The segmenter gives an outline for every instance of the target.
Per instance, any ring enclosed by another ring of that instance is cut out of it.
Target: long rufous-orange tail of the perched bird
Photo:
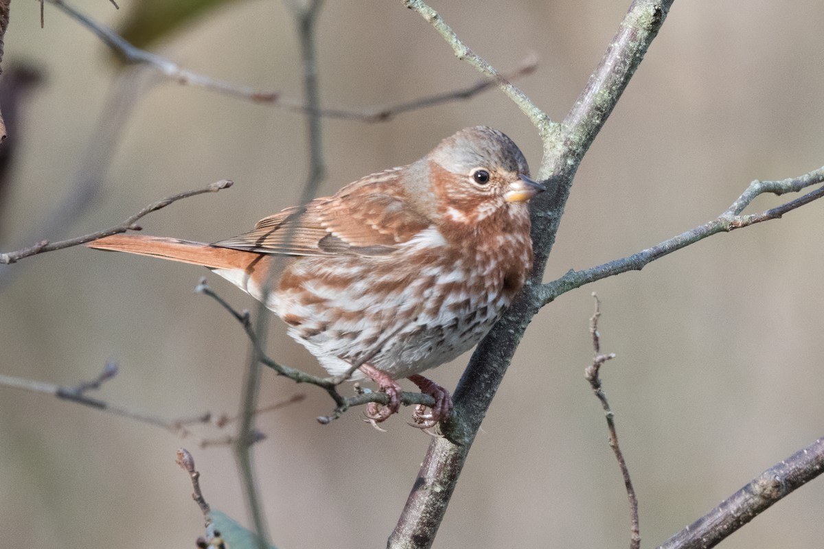
[[[178,240],[148,235],[111,235],[92,240],[89,248],[105,249],[127,254],[147,255],[180,263],[202,265],[212,269],[250,268],[261,254],[239,249],[221,248],[202,242]]]

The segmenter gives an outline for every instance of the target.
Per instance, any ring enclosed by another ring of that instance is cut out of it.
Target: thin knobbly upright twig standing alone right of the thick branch
[[[626,488],[627,498],[630,500],[630,549],[639,549],[641,547],[641,531],[638,521],[638,498],[635,496],[635,489],[632,486],[630,479],[630,469],[626,465],[624,453],[620,450],[618,444],[618,431],[616,430],[615,414],[612,412],[610,403],[606,400],[606,393],[601,384],[601,366],[606,361],[611,361],[616,357],[615,353],[608,355],[601,352],[601,334],[598,333],[598,319],[601,318],[601,300],[595,292],[592,292],[592,297],[595,298],[595,313],[589,319],[589,333],[592,335],[592,364],[584,370],[584,377],[587,378],[589,386],[592,387],[592,392],[598,400],[601,401],[601,406],[604,408],[604,415],[606,416],[606,426],[610,431],[610,448],[616,454],[618,466],[620,467],[621,476],[624,477],[624,486]]]

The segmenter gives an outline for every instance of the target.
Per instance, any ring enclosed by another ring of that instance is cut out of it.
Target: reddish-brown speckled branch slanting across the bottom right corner
[[[824,472],[824,438],[762,472],[658,549],[709,549]]]

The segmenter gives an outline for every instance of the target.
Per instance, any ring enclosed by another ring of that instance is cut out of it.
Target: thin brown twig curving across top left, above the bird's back
[[[40,0],[41,8],[43,0]],[[352,109],[321,109],[317,106],[312,106],[302,101],[284,97],[279,91],[260,91],[255,90],[251,86],[243,86],[229,81],[218,80],[217,78],[208,77],[199,72],[190,71],[185,67],[171,61],[171,59],[164,58],[161,55],[152,54],[145,49],[140,49],[128,40],[125,40],[115,30],[108,26],[102,25],[97,21],[92,20],[89,16],[77,10],[68,2],[64,0],[49,0],[54,6],[59,7],[63,12],[68,13],[75,20],[80,22],[87,29],[91,30],[104,44],[112,49],[116,54],[123,58],[125,63],[133,65],[143,65],[152,67],[162,77],[171,81],[176,81],[185,86],[194,86],[204,88],[208,91],[218,92],[225,95],[231,95],[238,99],[250,100],[255,103],[263,105],[271,105],[287,109],[292,112],[302,114],[318,114],[322,117],[332,119],[348,119],[363,123],[378,123],[386,122],[398,114],[404,114],[417,109],[425,109],[435,105],[442,105],[443,103],[452,102],[456,100],[465,100],[478,95],[483,91],[489,89],[494,85],[494,81],[485,79],[478,81],[472,86],[467,86],[459,90],[447,91],[440,94],[428,95],[419,99],[405,101],[395,105],[386,105],[382,107],[375,107],[372,109],[352,110]],[[535,71],[537,67],[537,58],[535,55],[530,55],[525,58],[522,63],[518,65],[513,71],[503,73],[503,79],[514,79],[517,77],[526,76]]]

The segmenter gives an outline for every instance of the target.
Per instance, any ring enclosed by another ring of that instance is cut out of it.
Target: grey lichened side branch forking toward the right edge
[[[725,212],[713,221],[708,221],[704,225],[687,230],[681,233],[681,235],[673,236],[671,239],[664,240],[663,242],[655,244],[652,248],[644,249],[629,257],[616,259],[615,261],[584,269],[583,271],[570,270],[563,277],[537,287],[536,297],[540,300],[541,305],[546,305],[550,303],[550,301],[555,300],[559,295],[590,282],[612,277],[622,272],[640,271],[648,263],[652,263],[667,254],[672,254],[672,252],[681,248],[686,248],[686,246],[695,244],[709,236],[741,229],[742,227],[755,225],[762,221],[780,219],[785,213],[792,212],[804,204],[824,197],[824,186],[800,198],[785,202],[778,207],[770,208],[763,212],[750,215],[742,215],[742,212],[757,196],[763,193],[773,193],[775,195],[798,193],[804,188],[822,182],[824,182],[824,166],[795,178],[781,179],[780,181],[753,181],[749,187],[747,187],[747,190],[745,190]]]

